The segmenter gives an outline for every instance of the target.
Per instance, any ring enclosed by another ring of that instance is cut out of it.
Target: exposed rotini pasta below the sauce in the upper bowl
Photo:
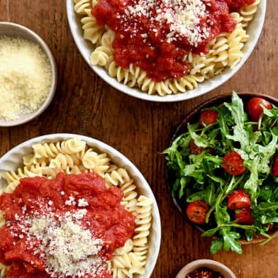
[[[113,59],[112,43],[115,33],[108,27],[98,26],[96,18],[91,15],[91,8],[97,0],[74,0],[74,11],[82,16],[84,39],[90,40],[95,48],[91,52],[91,65],[104,67],[111,77],[128,87],[138,87],[148,94],[184,93],[196,89],[199,83],[221,74],[227,67],[233,69],[243,57],[243,46],[248,40],[246,28],[255,16],[260,0],[245,6],[230,15],[237,21],[232,33],[221,33],[208,44],[206,55],[192,55],[190,52],[183,58],[190,66],[189,71],[180,79],[169,78],[155,82],[147,77],[147,73],[140,67],[130,64],[128,69],[118,66]]]

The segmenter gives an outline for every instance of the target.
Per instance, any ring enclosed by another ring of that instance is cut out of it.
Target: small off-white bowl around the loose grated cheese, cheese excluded
[[[45,102],[42,104],[42,106],[40,106],[39,109],[37,109],[33,113],[21,114],[19,118],[12,121],[6,121],[5,119],[0,118],[0,126],[18,126],[21,125],[22,123],[26,123],[30,120],[33,120],[33,118],[35,117],[38,117],[41,113],[43,113],[43,111],[45,111],[45,109],[52,101],[57,87],[57,67],[56,67],[55,59],[52,55],[52,52],[48,48],[48,45],[46,45],[43,39],[40,38],[40,36],[38,36],[32,30],[16,23],[0,22],[0,36],[1,35],[7,35],[8,37],[24,38],[26,40],[33,41],[34,43],[40,45],[40,47],[43,49],[45,54],[48,56],[48,60],[50,62],[51,71],[52,71],[52,82],[51,82],[49,94],[45,99]]]

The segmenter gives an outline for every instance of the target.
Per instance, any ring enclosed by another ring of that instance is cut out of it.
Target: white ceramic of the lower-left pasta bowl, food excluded
[[[161,240],[161,225],[160,225],[160,213],[158,211],[157,202],[155,201],[155,196],[152,194],[152,189],[148,182],[145,180],[140,171],[133,165],[128,158],[118,152],[114,148],[99,140],[94,138],[89,138],[87,136],[77,135],[77,134],[50,134],[44,135],[37,138],[30,139],[15,148],[11,149],[5,155],[0,158],[0,188],[4,185],[4,179],[1,179],[1,175],[6,171],[16,170],[18,167],[23,165],[22,157],[32,152],[32,145],[35,143],[46,143],[46,142],[57,142],[59,140],[67,140],[73,137],[79,137],[84,140],[88,145],[101,152],[106,152],[116,165],[125,167],[131,177],[133,177],[135,184],[138,186],[138,192],[144,194],[150,198],[153,202],[152,206],[152,229],[149,238],[149,251],[147,257],[147,263],[145,266],[145,274],[135,276],[136,278],[150,278],[153,269],[155,268],[155,263],[157,261],[158,253],[160,251],[160,240]]]

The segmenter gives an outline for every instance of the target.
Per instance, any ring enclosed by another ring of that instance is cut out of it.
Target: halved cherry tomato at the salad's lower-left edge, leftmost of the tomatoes
[[[206,223],[206,213],[209,211],[209,206],[204,201],[192,201],[187,206],[187,217],[195,224]]]

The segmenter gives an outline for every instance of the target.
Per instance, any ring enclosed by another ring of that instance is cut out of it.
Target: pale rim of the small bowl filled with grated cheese
[[[46,97],[45,101],[43,102],[43,104],[39,108],[37,110],[35,110],[33,113],[24,114],[24,115],[27,115],[27,116],[23,119],[21,118],[21,116],[19,116],[19,118],[15,119],[15,120],[9,120],[9,121],[6,121],[3,118],[0,118],[0,127],[19,126],[23,123],[27,123],[28,121],[33,120],[33,118],[36,118],[36,117],[40,116],[40,114],[43,113],[43,111],[45,111],[45,109],[47,109],[48,106],[50,105],[50,102],[52,101],[52,99],[55,95],[55,91],[57,89],[57,79],[58,79],[58,77],[57,77],[57,65],[56,65],[56,62],[55,62],[55,57],[53,56],[53,54],[52,54],[50,48],[48,47],[48,45],[33,30],[30,30],[29,28],[27,28],[26,26],[22,26],[21,24],[9,22],[9,21],[0,21],[0,28],[2,28],[2,27],[6,27],[6,28],[10,28],[10,29],[17,29],[21,33],[27,33],[28,35],[30,35],[30,37],[33,37],[33,39],[34,39],[33,42],[40,45],[40,48],[42,48],[43,52],[45,52],[45,55],[47,55],[48,60],[50,62],[50,67],[51,67],[51,86],[50,86],[50,90],[48,92],[48,96]],[[3,33],[1,35],[5,35],[5,34]]]

